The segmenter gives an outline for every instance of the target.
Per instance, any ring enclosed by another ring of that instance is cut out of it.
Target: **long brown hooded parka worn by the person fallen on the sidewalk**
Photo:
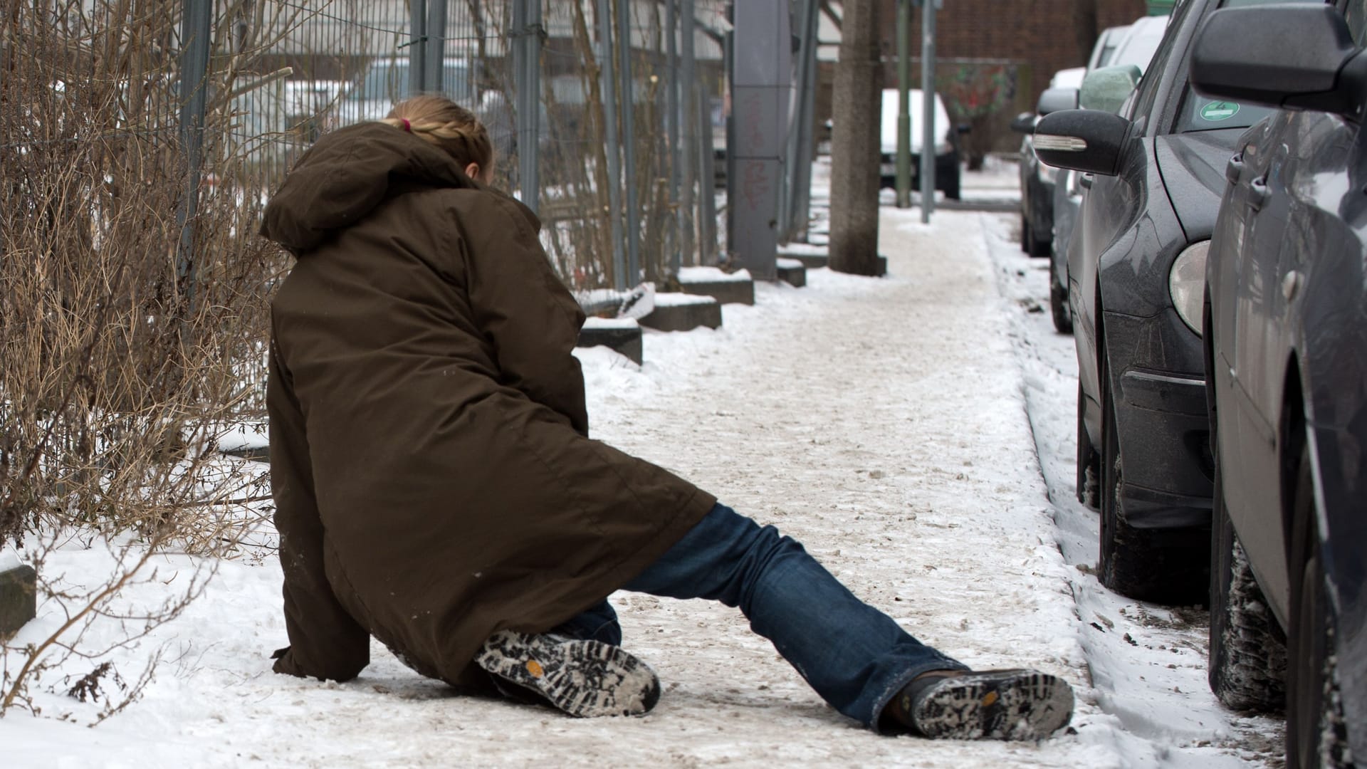
[[[267,207],[298,260],[272,302],[276,672],[353,679],[373,635],[483,686],[489,634],[595,605],[715,504],[588,438],[584,313],[539,226],[383,123],[324,135]]]

